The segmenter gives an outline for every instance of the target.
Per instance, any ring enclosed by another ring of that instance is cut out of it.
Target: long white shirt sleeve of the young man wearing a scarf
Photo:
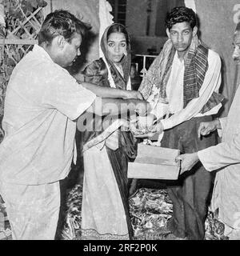
[[[164,130],[170,129],[182,122],[189,120],[190,118],[193,118],[202,110],[202,107],[209,100],[213,92],[218,92],[221,85],[221,60],[219,55],[214,51],[209,50],[208,63],[209,68],[206,71],[202,87],[199,90],[199,97],[192,99],[184,109],[173,114],[170,118],[162,120]],[[215,106],[217,110],[216,113],[218,113],[218,110],[222,106],[221,103],[218,105],[219,106]]]

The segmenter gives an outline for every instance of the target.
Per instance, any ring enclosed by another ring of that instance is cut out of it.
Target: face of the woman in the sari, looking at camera
[[[121,62],[122,57],[126,54],[126,37],[120,32],[111,33],[107,39],[106,46],[108,58],[112,62]]]

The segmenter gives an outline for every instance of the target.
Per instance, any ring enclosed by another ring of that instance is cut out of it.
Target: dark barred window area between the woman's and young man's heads
[[[136,54],[148,54],[148,49],[159,53],[167,39],[164,25],[166,12],[174,6],[184,6],[184,0],[151,0],[149,35],[146,35],[147,3],[148,0],[127,1],[126,27]]]

